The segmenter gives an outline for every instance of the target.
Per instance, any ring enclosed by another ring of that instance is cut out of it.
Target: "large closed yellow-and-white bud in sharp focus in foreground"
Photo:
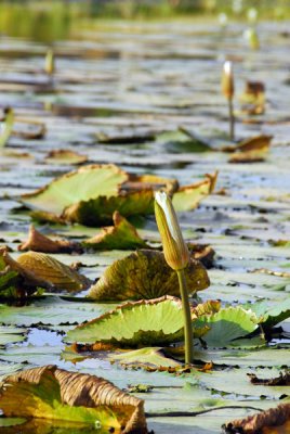
[[[189,261],[189,252],[182,237],[171,199],[164,192],[155,194],[155,217],[166,261],[175,271],[184,269]]]

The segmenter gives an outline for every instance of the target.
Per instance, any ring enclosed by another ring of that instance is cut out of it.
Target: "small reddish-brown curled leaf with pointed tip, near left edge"
[[[51,240],[42,235],[34,225],[29,228],[28,240],[18,245],[18,251],[34,251],[42,253],[81,253],[82,247],[79,243],[74,243],[68,240]]]

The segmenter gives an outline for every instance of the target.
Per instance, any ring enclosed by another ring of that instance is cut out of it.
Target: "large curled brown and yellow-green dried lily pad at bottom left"
[[[0,390],[0,408],[5,417],[69,421],[121,434],[147,433],[143,399],[102,378],[56,366],[8,376]]]

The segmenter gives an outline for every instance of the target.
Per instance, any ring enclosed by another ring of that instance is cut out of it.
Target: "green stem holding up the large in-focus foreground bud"
[[[194,336],[193,336],[190,306],[188,301],[184,269],[176,270],[176,273],[179,277],[180,291],[182,296],[182,307],[184,315],[185,365],[190,365],[194,358]]]

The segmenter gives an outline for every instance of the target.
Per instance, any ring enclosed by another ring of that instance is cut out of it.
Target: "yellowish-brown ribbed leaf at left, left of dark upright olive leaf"
[[[60,290],[80,291],[89,285],[87,278],[44,253],[24,253],[17,263],[34,276]]]

